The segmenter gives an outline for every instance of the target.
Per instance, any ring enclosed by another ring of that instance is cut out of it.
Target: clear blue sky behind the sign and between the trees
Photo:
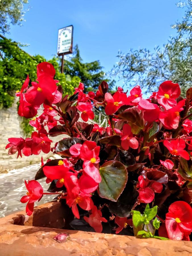
[[[23,26],[11,26],[5,36],[49,59],[57,51],[58,28],[73,24],[83,61],[100,60],[105,72],[118,61],[118,50],[162,46],[175,34],[170,25],[184,14],[174,0],[29,0],[29,5]]]

